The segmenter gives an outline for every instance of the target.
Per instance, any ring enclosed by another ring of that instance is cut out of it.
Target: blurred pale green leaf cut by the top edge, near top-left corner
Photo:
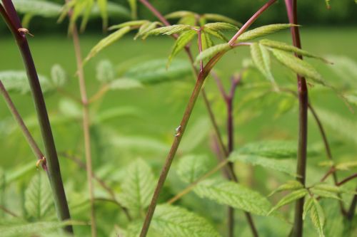
[[[62,6],[43,0],[13,0],[16,11],[31,16],[56,17],[61,13]]]

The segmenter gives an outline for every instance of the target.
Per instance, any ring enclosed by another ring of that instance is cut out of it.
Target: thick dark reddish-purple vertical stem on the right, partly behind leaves
[[[296,0],[285,0],[288,20],[295,25],[298,24]],[[300,33],[298,27],[291,27],[291,36],[293,38],[293,46],[301,48]],[[301,56],[296,55],[301,58]],[[297,180],[305,186],[306,179],[306,150],[307,150],[307,133],[308,133],[308,89],[306,79],[301,75],[297,75],[298,80],[298,158],[297,158]],[[293,223],[292,236],[303,236],[303,202],[304,199],[298,199],[295,207],[295,217]]]

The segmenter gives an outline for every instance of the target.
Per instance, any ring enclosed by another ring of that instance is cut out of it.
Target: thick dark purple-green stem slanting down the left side
[[[29,85],[31,88],[31,94],[34,99],[34,105],[37,112],[37,118],[39,120],[39,126],[41,128],[41,135],[44,142],[46,164],[48,167],[49,182],[54,194],[54,203],[56,206],[57,216],[61,221],[71,218],[69,214],[69,207],[66,200],[66,194],[64,192],[64,185],[61,178],[61,170],[59,167],[59,159],[56,153],[56,147],[54,144],[54,137],[51,131],[51,125],[49,122],[49,115],[47,114],[46,104],[44,101],[44,95],[42,94],[41,85],[39,83],[39,77],[36,72],[34,60],[31,56],[29,43],[26,40],[26,36],[23,32],[18,31],[21,28],[19,16],[17,16],[14,5],[11,0],[2,0],[6,12],[0,7],[1,16],[4,17],[7,26],[16,38],[16,43],[19,46],[22,59],[26,68],[26,73],[29,78]],[[73,233],[71,225],[64,227],[66,231]]]

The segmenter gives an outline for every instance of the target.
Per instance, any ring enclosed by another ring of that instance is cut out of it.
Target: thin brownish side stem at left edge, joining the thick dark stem
[[[3,95],[6,105],[9,107],[11,114],[13,115],[17,124],[19,125],[19,127],[22,131],[22,134],[26,138],[27,143],[29,143],[29,146],[31,147],[32,152],[34,152],[37,159],[39,159],[39,160],[44,159],[44,154],[41,152],[34,137],[32,137],[29,129],[26,127],[24,120],[22,120],[22,117],[19,114],[19,111],[16,110],[14,102],[12,102],[9,93],[6,91],[6,88],[4,87],[4,84],[1,82],[1,80],[0,80],[0,93],[1,93],[1,95]],[[46,162],[42,162],[42,168],[44,168],[44,170],[47,170]]]

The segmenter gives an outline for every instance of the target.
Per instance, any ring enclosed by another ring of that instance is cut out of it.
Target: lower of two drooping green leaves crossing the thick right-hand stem
[[[275,56],[281,64],[285,65],[287,68],[290,68],[293,70],[293,72],[324,84],[320,73],[318,73],[316,69],[306,61],[301,60],[300,58],[296,58],[291,53],[286,53],[285,51],[281,51],[275,48],[271,48],[271,51],[273,52],[273,56]]]

